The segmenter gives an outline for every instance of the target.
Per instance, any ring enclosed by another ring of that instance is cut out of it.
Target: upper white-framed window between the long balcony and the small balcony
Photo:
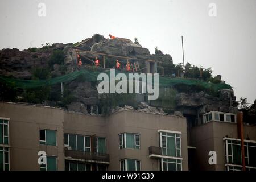
[[[141,145],[140,134],[134,134],[134,133],[119,134],[119,149],[122,149],[122,148],[139,149],[140,145]]]

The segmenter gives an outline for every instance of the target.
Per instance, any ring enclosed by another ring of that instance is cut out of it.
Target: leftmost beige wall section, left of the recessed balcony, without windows
[[[0,116],[10,118],[10,170],[39,170],[38,152],[57,156],[64,170],[63,110],[0,102]],[[57,146],[39,144],[39,129],[57,131]]]

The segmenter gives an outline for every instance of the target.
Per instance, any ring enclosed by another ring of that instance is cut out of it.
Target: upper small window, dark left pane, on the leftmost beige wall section
[[[40,144],[56,146],[56,130],[39,130]]]

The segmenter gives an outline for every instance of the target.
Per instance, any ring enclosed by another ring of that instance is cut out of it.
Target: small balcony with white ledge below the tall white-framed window
[[[168,158],[168,159],[179,159],[182,160],[183,158],[176,156],[176,155],[171,155],[173,154],[174,150],[169,150],[167,148],[163,148],[162,150],[161,147],[154,147],[151,146],[148,148],[149,150],[149,157],[150,158]],[[180,154],[181,156],[181,154]]]

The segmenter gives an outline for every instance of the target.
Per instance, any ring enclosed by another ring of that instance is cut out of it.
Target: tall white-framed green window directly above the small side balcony
[[[181,157],[181,142],[179,133],[160,132],[160,147],[162,155]]]

